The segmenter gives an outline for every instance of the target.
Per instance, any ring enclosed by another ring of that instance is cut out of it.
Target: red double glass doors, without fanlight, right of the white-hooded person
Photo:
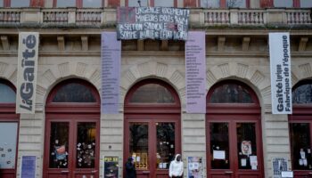
[[[251,120],[209,122],[209,177],[260,177],[259,123]]]

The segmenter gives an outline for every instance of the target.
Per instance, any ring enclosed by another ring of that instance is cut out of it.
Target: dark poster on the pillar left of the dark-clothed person
[[[104,157],[103,178],[118,178],[119,177],[119,158]]]

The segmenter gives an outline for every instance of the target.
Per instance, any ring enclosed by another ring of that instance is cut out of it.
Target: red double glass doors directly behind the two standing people
[[[126,137],[124,159],[134,158],[138,178],[168,177],[170,161],[180,150],[177,121],[128,120]]]

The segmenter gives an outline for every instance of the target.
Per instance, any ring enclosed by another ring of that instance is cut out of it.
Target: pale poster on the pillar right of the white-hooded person
[[[202,171],[202,157],[187,157],[187,178],[202,178]]]

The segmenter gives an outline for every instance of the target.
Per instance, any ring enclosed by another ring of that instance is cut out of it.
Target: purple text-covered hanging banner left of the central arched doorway
[[[119,113],[121,41],[116,32],[102,33],[102,104],[103,114]]]

